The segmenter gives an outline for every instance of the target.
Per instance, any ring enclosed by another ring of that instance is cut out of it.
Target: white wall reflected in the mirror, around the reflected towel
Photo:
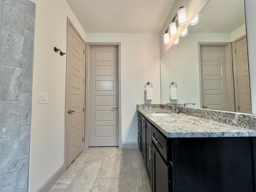
[[[161,102],[196,103],[200,107],[200,70],[198,42],[230,42],[230,33],[189,33],[180,37],[161,58]],[[169,99],[169,85],[178,84],[178,100]]]

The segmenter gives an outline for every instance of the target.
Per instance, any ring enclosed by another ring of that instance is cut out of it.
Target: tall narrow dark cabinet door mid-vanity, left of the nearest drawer
[[[148,177],[149,177],[149,180],[150,180],[150,184],[151,184],[151,187],[152,187],[152,158],[150,158],[150,156],[152,156],[151,154],[151,144],[152,144],[152,127],[151,127],[151,124],[150,122],[147,121],[146,123],[146,168],[148,170]]]

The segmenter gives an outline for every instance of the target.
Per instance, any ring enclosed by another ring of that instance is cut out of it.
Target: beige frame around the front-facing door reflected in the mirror
[[[202,108],[202,74],[201,74],[201,55],[200,46],[218,46],[225,47],[226,56],[226,76],[228,89],[228,109],[230,112],[235,112],[235,98],[234,98],[234,73],[232,61],[232,43],[231,42],[198,42],[198,64],[199,64],[199,90],[200,90],[200,108]]]

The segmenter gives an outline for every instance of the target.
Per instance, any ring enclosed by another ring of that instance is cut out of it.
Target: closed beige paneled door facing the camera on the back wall
[[[118,146],[118,47],[90,47],[89,146]]]

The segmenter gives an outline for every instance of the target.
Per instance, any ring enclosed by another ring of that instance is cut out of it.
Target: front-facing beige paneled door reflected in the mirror
[[[200,46],[202,107],[228,111],[224,46]]]

